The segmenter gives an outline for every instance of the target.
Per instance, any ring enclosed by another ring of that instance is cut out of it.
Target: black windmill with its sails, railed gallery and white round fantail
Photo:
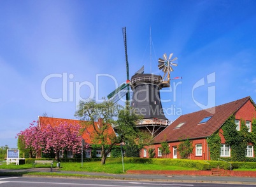
[[[173,53],[167,58],[159,58],[159,69],[164,72],[164,77],[160,75],[144,74],[144,66],[138,70],[129,81],[129,65],[127,60],[126,31],[123,28],[125,60],[127,81],[119,86],[115,91],[108,94],[108,99],[117,102],[126,94],[126,105],[129,105],[130,87],[133,91],[131,107],[138,115],[143,115],[143,119],[137,124],[141,131],[148,131],[156,136],[169,125],[169,120],[164,115],[162,103],[160,100],[160,89],[170,86],[170,72],[173,71],[171,66],[177,66],[173,63],[178,58],[173,58]]]

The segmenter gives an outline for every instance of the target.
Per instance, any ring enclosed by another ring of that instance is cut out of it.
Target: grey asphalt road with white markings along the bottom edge
[[[0,177],[0,186],[4,187],[43,187],[43,186],[112,186],[112,187],[144,187],[144,186],[166,186],[166,187],[182,187],[182,186],[195,186],[195,187],[222,187],[222,186],[253,186],[256,184],[227,184],[227,183],[174,183],[174,182],[150,182],[150,181],[125,181],[125,180],[103,180],[103,179],[72,179],[72,178],[59,178],[59,177]]]

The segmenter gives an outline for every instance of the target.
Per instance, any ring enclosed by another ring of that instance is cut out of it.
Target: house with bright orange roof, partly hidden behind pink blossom
[[[98,119],[97,122],[94,122],[96,129],[100,128],[102,126],[102,120],[103,119]],[[67,123],[69,125],[75,125],[75,124],[80,124],[82,127],[82,124],[85,123],[85,121],[83,120],[73,120],[73,119],[60,119],[60,118],[55,118],[55,117],[38,117],[38,124],[41,128],[43,128],[44,126],[47,126],[48,124],[50,124],[51,126],[58,126],[59,124],[64,124]],[[107,129],[106,131],[107,134],[111,135],[111,136],[116,136],[115,135],[115,131],[113,129],[113,127],[110,126],[110,128]],[[89,145],[93,145],[94,143],[92,142],[92,136],[94,136],[94,127],[92,126],[88,126],[86,131],[83,132],[82,134],[82,138],[83,141]],[[108,139],[108,141],[110,141],[110,139]],[[84,150],[85,153],[85,157],[87,158],[91,158],[92,156],[92,152],[95,153],[96,157],[101,157],[101,149],[97,148],[97,150],[92,150],[92,147]],[[62,158],[64,155],[63,152],[60,152],[60,158]],[[73,153],[72,152],[66,152],[66,156],[68,158],[73,158]],[[41,155],[39,155],[39,157],[41,157]]]

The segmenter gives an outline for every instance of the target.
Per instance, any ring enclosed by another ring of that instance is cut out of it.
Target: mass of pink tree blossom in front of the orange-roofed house
[[[73,154],[81,153],[82,134],[80,124],[60,123],[52,126],[34,126],[34,122],[25,131],[18,133],[18,137],[24,143],[25,148],[31,150],[31,157],[52,150],[59,160],[60,151],[71,151]],[[88,148],[86,143],[84,148]]]

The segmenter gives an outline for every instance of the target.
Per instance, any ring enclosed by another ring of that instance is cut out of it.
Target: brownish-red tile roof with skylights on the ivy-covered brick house
[[[160,134],[154,138],[154,142],[171,142],[180,141],[181,139],[197,139],[211,136],[211,134],[222,127],[225,120],[241,108],[248,100],[253,103],[252,99],[248,96],[224,105],[181,115],[178,119],[174,120],[172,124],[166,127],[164,131],[160,132]],[[255,105],[255,103],[253,103],[253,105]],[[204,117],[210,116],[212,117],[208,122],[199,124]],[[178,124],[183,122],[184,124],[181,127],[175,128]]]

